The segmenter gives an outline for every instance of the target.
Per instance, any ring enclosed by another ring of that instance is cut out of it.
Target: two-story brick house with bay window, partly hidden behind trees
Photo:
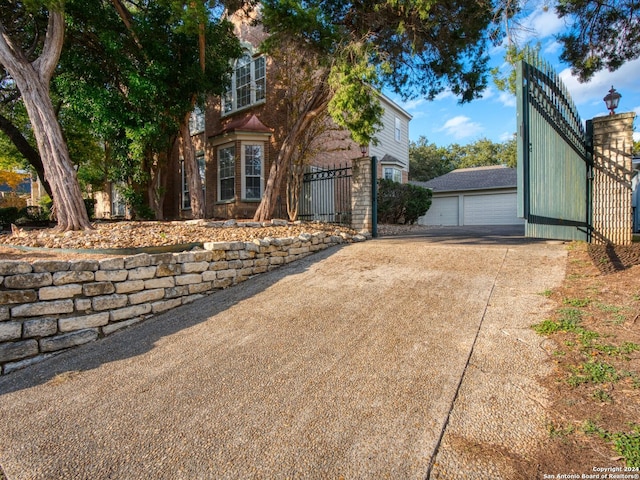
[[[235,62],[231,85],[221,97],[210,98],[206,108],[196,109],[190,124],[207,218],[253,217],[287,133],[289,114],[282,101],[286,86],[276,81],[273,59],[258,50],[265,35],[245,19],[235,18],[234,23],[244,55]],[[407,182],[411,116],[386,96],[380,94],[379,98],[384,109],[383,126],[377,143],[368,146],[368,155],[377,156],[379,177]],[[334,124],[332,131],[320,139],[322,148],[309,162],[311,165],[350,165],[353,158],[362,156],[361,147],[348,132],[336,129]],[[105,217],[115,216],[116,209],[125,213],[121,202],[113,200],[117,197],[113,186],[106,190],[110,194],[104,195],[97,210]],[[192,218],[188,182],[177,149],[168,165],[165,191],[165,218]],[[285,193],[283,185],[277,217],[287,216]]]

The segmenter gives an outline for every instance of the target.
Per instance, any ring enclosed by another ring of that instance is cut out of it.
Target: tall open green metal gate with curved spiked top
[[[529,51],[517,66],[518,216],[525,235],[591,237],[592,156],[589,134],[566,87]]]

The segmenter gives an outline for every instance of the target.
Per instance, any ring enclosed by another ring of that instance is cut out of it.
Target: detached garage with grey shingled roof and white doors
[[[420,225],[521,225],[517,217],[516,169],[460,168],[428,182],[411,182],[433,192]]]

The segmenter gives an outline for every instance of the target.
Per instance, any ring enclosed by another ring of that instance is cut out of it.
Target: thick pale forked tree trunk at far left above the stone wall
[[[82,230],[92,227],[49,95],[49,82],[60,58],[63,40],[64,15],[50,11],[42,54],[29,62],[0,21],[0,63],[16,82],[27,109],[45,177],[51,185],[58,229]]]

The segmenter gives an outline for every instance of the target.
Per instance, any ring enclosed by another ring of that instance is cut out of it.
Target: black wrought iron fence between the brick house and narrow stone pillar
[[[351,225],[351,166],[309,167],[302,180],[298,218]]]

